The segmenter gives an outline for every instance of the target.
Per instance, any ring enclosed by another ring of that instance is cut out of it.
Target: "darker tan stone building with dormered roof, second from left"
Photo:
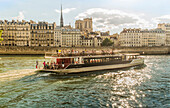
[[[31,24],[30,46],[54,46],[56,24],[38,22]]]

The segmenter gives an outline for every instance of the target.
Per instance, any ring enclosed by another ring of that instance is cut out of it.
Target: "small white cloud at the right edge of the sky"
[[[169,23],[170,22],[170,15],[164,15],[160,17],[153,18],[152,21],[156,24],[158,23]]]

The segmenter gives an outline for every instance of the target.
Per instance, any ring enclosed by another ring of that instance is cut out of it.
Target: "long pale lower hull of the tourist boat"
[[[36,72],[53,72],[53,73],[64,75],[64,74],[93,72],[93,71],[100,71],[100,70],[121,69],[121,68],[128,68],[128,67],[133,67],[133,66],[138,66],[143,64],[144,64],[144,59],[134,59],[127,64],[113,64],[113,65],[92,66],[92,67],[62,69],[62,70],[41,69],[41,70],[37,70]]]

